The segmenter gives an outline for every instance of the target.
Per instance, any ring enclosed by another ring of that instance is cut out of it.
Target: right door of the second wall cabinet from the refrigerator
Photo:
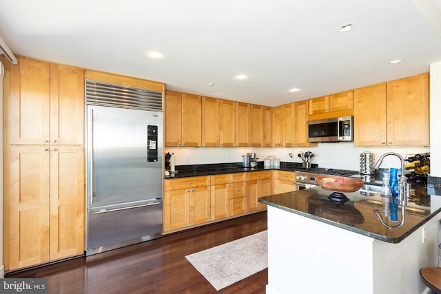
[[[234,146],[236,136],[236,104],[234,101],[219,101],[219,144],[224,147]]]

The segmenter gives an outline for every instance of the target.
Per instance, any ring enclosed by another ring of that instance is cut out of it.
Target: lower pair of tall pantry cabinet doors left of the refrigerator
[[[10,146],[8,269],[84,251],[82,146]]]

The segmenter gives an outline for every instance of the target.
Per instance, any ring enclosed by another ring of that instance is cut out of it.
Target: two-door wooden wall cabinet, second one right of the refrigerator
[[[202,97],[202,146],[234,146],[234,101]]]

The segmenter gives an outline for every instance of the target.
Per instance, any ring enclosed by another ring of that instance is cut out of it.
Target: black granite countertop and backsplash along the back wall
[[[317,164],[312,164],[311,167],[318,167]],[[263,162],[258,162],[254,168],[242,167],[241,162],[234,163],[210,163],[206,165],[178,165],[176,166],[177,174],[173,176],[165,176],[165,179],[172,178],[188,178],[193,176],[212,176],[218,174],[235,174],[247,171],[265,171],[271,169],[278,169],[283,171],[300,171],[306,170],[298,162],[280,162],[280,167],[264,167]]]

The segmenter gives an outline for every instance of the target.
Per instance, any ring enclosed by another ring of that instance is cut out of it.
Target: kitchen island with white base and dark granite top
[[[420,268],[438,266],[441,197],[409,203],[404,226],[389,229],[373,212],[382,212],[380,196],[345,193],[349,202],[337,205],[330,193],[259,199],[268,210],[267,293],[424,293]]]

